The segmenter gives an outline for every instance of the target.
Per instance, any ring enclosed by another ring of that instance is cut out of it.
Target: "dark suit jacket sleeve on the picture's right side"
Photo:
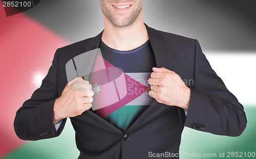
[[[246,124],[243,105],[212,70],[196,40],[194,87],[184,125],[216,135],[240,136]]]

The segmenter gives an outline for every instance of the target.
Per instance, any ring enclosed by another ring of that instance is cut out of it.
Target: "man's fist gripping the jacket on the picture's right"
[[[151,91],[148,94],[160,103],[176,105],[187,111],[190,89],[181,80],[180,76],[164,67],[154,67],[153,71],[151,78],[148,80],[148,84],[151,85]]]

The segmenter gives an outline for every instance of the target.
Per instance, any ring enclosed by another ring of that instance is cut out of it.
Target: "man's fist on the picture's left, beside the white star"
[[[67,117],[76,117],[92,107],[94,92],[92,85],[81,77],[68,83],[61,96],[54,103],[53,123],[58,123]]]

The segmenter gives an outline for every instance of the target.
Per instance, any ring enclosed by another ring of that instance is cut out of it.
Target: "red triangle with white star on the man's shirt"
[[[105,117],[149,90],[97,55],[88,81],[93,85],[92,109]]]

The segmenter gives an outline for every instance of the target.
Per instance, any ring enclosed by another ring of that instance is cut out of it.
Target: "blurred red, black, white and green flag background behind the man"
[[[0,158],[77,158],[79,151],[70,121],[58,138],[22,141],[14,133],[13,120],[17,109],[40,87],[55,50],[103,30],[99,2],[45,0],[9,17],[0,5]],[[204,158],[220,158],[223,152],[225,157],[221,158],[236,158],[231,152],[253,158],[253,153],[251,157],[248,154],[256,152],[254,6],[253,0],[144,1],[143,18],[148,26],[199,40],[212,68],[244,105],[247,115],[248,124],[240,137],[217,136],[185,127],[181,158],[200,158],[196,153],[205,153]]]

